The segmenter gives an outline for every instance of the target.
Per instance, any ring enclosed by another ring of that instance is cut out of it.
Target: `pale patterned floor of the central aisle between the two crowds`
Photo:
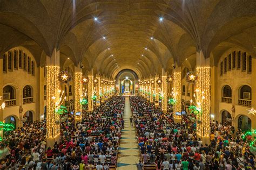
[[[124,130],[120,140],[117,169],[137,169],[139,162],[138,140],[134,126],[130,126],[130,117],[132,116],[129,96],[125,97],[124,107]],[[133,124],[134,125],[134,124]]]

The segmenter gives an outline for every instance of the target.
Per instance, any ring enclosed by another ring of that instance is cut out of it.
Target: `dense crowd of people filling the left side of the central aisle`
[[[0,145],[0,169],[109,169],[117,163],[125,97],[113,96],[76,122],[62,116],[60,142],[46,147],[46,122],[24,125]]]

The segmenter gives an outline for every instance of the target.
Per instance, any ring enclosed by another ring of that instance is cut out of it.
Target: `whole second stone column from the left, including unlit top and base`
[[[74,79],[74,84],[75,84],[75,125],[77,122],[81,122],[82,121],[82,104],[80,103],[80,99],[82,98],[82,93],[83,93],[83,84],[82,84],[82,69],[79,67],[75,67],[75,79]],[[80,115],[76,115],[77,112],[80,112]]]

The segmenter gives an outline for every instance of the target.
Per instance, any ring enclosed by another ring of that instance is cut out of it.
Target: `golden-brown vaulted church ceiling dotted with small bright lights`
[[[255,32],[254,0],[0,1],[0,53],[24,46],[42,66],[57,48],[107,77],[171,72],[199,50],[214,62],[232,46],[255,56]]]

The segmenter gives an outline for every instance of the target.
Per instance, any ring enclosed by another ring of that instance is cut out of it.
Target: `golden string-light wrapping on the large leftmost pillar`
[[[59,114],[56,114],[56,102],[59,101],[59,66],[46,66],[46,127],[47,138],[59,135]]]

